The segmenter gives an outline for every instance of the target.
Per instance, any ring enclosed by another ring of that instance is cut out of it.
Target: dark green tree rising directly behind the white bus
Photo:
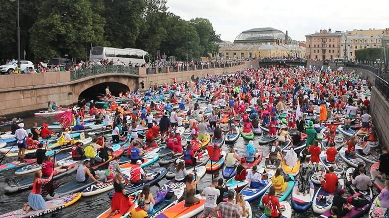
[[[144,28],[144,0],[104,0],[105,36],[114,48],[131,48]]]

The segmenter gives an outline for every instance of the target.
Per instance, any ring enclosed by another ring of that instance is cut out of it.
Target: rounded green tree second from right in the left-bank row
[[[161,53],[178,60],[191,60],[200,55],[200,38],[195,27],[179,16],[169,14],[166,22],[168,37],[161,43]]]

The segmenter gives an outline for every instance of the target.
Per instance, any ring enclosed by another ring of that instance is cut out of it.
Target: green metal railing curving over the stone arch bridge
[[[70,80],[81,79],[83,77],[104,73],[126,73],[138,75],[139,68],[121,65],[94,66],[92,68],[78,69],[71,72]]]

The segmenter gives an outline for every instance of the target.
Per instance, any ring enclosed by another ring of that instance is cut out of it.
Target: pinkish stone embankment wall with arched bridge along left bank
[[[190,80],[191,76],[220,75],[233,73],[250,67],[258,68],[258,61],[236,61],[208,65],[173,67],[134,68],[126,66],[98,66],[74,72],[33,73],[0,75],[0,115],[15,115],[47,108],[49,101],[57,105],[71,105],[85,92],[96,90],[106,84],[135,91],[141,81],[145,87],[154,84],[170,84]]]

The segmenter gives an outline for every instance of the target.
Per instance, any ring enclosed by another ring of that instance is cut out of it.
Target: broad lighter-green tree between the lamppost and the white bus
[[[36,60],[65,54],[85,59],[89,43],[106,43],[104,19],[92,12],[89,0],[46,0],[30,33]]]

